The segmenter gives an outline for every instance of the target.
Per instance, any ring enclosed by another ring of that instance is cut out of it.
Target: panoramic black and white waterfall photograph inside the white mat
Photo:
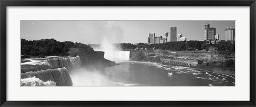
[[[20,86],[236,86],[235,22],[21,20]]]

